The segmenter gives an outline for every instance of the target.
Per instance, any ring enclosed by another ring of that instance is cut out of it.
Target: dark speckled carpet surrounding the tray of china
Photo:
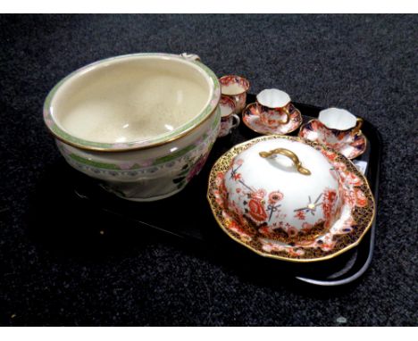
[[[0,16],[0,324],[417,325],[417,28],[416,15]],[[261,286],[169,242],[101,242],[100,227],[95,254],[75,238],[61,249],[34,225],[31,197],[60,159],[48,90],[104,57],[183,51],[252,92],[279,87],[380,129],[377,245],[354,286]]]

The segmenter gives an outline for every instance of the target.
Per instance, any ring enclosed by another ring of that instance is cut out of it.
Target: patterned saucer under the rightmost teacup
[[[348,159],[355,159],[363,154],[367,145],[367,140],[362,132],[351,135],[345,131],[328,129],[319,120],[311,120],[305,123],[298,135],[310,141],[329,146]]]

